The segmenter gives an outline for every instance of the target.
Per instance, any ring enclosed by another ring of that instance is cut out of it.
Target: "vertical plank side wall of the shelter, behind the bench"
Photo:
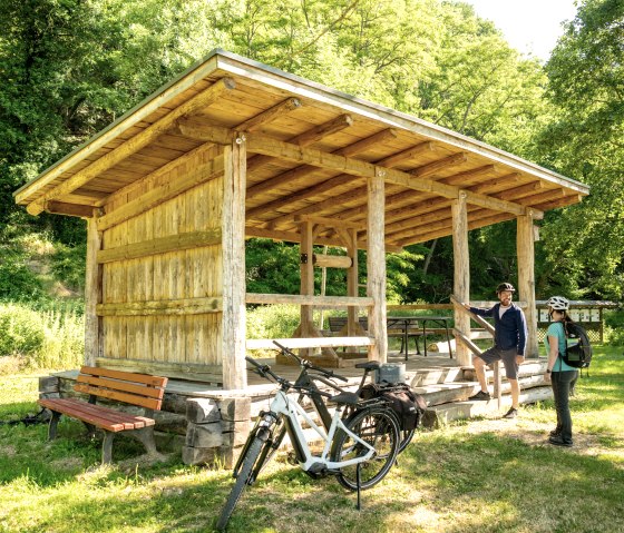
[[[106,214],[179,180],[188,169],[196,170],[216,155],[214,150],[198,151],[195,160],[184,161],[158,179],[134,184],[115,196]],[[103,355],[107,362],[139,359],[186,368],[221,365],[222,198],[220,176],[104,231],[98,314],[103,316]],[[198,233],[215,235],[216,241],[197,245]],[[183,249],[175,249],[175,245],[163,248],[164,239],[179,239],[181,235],[189,236],[194,244]],[[155,244],[165,251],[131,257],[137,249]],[[116,249],[128,250],[126,257],[130,258],[118,258]],[[215,303],[213,308],[206,309],[206,299]]]

